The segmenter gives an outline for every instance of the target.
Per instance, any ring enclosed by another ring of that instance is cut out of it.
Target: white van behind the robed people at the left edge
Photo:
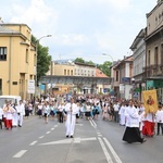
[[[0,96],[0,106],[3,108],[3,104],[7,101],[12,101],[12,103],[17,103],[20,102],[22,98],[20,96]]]

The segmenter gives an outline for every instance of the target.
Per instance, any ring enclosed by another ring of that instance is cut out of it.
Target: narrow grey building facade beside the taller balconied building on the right
[[[143,80],[143,67],[146,66],[146,28],[141,29],[135,38],[130,49],[133,51],[133,98],[141,101],[141,92],[146,90]]]

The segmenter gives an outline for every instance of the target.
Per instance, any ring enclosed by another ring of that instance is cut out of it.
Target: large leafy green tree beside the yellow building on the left
[[[50,63],[52,61],[51,55],[49,55],[49,48],[42,47],[37,39],[32,36],[32,42],[36,45],[37,48],[37,84],[41,76],[45,76],[49,71]]]

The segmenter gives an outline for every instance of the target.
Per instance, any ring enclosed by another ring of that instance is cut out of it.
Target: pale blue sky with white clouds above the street
[[[52,60],[83,58],[102,64],[131,55],[146,14],[156,0],[3,0],[3,23],[29,26]],[[105,55],[103,55],[103,53]]]

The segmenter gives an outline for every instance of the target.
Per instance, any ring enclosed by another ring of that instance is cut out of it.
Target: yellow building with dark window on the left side
[[[0,24],[0,95],[27,99],[35,92],[36,47],[30,39],[26,24]]]

